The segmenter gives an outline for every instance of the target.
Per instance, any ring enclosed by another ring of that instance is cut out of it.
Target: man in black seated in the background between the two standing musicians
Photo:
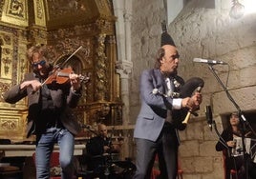
[[[91,159],[88,162],[88,170],[93,170],[95,174],[104,174],[110,167],[108,165],[112,160],[112,153],[118,153],[120,146],[112,144],[106,125],[98,124],[97,136],[88,141],[86,150]]]

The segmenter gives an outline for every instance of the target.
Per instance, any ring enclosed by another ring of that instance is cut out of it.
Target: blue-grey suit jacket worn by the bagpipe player
[[[141,109],[137,118],[134,137],[156,141],[165,123],[167,109],[172,109],[171,97],[152,93],[159,89],[165,93],[166,84],[159,69],[144,70],[140,78]]]

